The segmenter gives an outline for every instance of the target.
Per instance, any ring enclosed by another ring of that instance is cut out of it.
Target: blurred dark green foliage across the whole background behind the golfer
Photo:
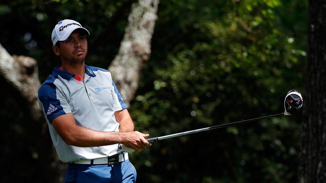
[[[43,81],[60,63],[51,49],[54,24],[76,19],[91,32],[86,63],[107,68],[132,2],[1,2],[0,42],[36,58]],[[151,57],[129,107],[136,129],[153,137],[282,112],[288,90],[304,95],[306,9],[307,0],[161,0]],[[18,121],[3,136],[24,136]],[[301,111],[153,142],[129,156],[139,182],[294,182],[300,123]],[[6,148],[9,155],[16,147]]]

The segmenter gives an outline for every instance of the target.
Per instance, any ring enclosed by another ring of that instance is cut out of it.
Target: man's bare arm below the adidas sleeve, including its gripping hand
[[[96,131],[77,125],[71,113],[56,117],[52,120],[51,124],[61,138],[69,145],[89,147],[122,143],[136,151],[141,151],[150,145],[145,140],[148,134],[143,134],[138,131]]]

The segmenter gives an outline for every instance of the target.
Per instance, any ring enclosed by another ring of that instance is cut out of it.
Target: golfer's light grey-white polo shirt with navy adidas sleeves
[[[127,108],[127,105],[109,71],[85,65],[85,76],[81,79],[55,67],[41,85],[38,98],[61,161],[105,157],[120,150],[118,144],[96,147],[68,145],[51,125],[54,118],[72,113],[77,125],[98,131],[119,131],[114,112]]]

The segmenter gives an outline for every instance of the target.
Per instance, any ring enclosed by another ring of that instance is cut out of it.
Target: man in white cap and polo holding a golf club
[[[134,131],[109,71],[85,64],[89,31],[64,19],[52,31],[62,65],[39,89],[39,104],[59,158],[69,162],[65,182],[135,182],[136,170],[119,144],[138,152],[149,134]]]

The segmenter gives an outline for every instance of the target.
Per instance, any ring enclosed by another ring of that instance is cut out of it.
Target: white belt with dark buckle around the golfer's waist
[[[95,159],[79,159],[74,162],[70,162],[73,164],[116,164],[122,161],[129,159],[128,153],[119,153],[112,156],[100,157]]]

